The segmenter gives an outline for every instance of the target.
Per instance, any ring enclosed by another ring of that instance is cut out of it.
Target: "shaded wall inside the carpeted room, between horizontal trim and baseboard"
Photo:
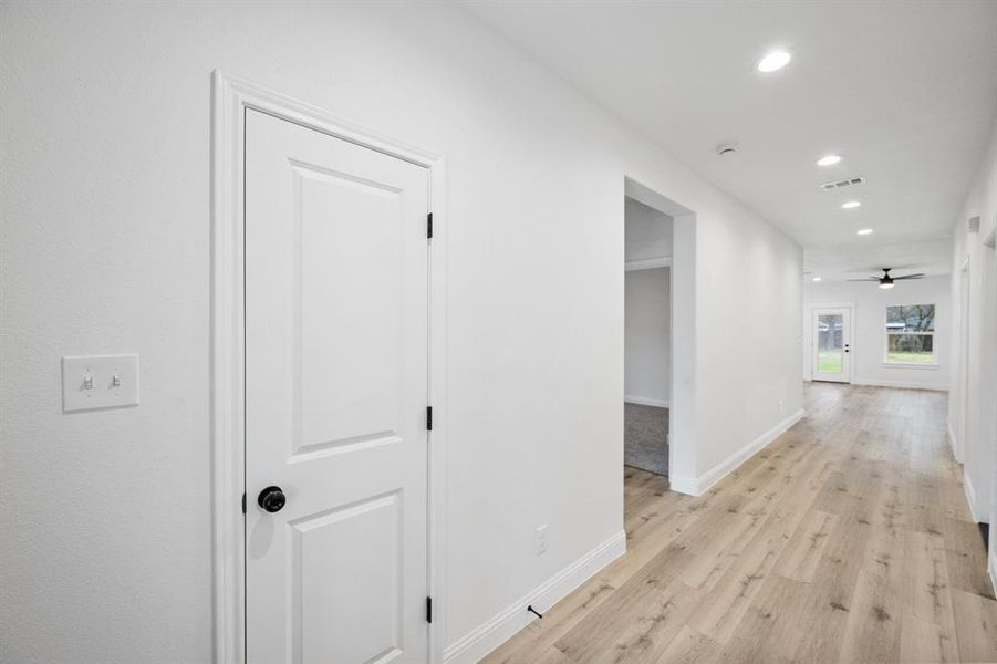
[[[624,282],[624,396],[666,407],[672,393],[672,269],[634,270]]]

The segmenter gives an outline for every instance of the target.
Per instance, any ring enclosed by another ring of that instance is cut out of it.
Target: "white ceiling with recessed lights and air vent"
[[[948,271],[997,114],[997,2],[529,2],[465,7],[799,241],[809,270]],[[771,48],[792,62],[755,71]],[[716,147],[736,142],[738,154]],[[837,166],[814,160],[844,156]],[[824,181],[868,184],[825,193]],[[841,203],[862,201],[856,210]],[[874,228],[860,238],[855,230]]]

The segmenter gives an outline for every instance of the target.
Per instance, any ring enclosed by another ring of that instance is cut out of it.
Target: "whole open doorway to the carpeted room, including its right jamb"
[[[623,194],[624,478],[698,496],[696,212],[629,177]]]

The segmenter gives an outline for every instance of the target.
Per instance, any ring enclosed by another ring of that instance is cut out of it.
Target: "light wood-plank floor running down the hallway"
[[[485,662],[997,662],[938,392],[813,383],[699,498],[626,469],[627,552]]]

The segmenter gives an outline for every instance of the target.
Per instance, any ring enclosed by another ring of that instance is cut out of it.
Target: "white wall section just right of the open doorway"
[[[803,407],[802,252],[771,226],[730,222],[737,216],[734,208],[700,215],[696,228],[698,476]],[[676,279],[676,300],[677,290]],[[677,334],[672,342],[679,347]],[[683,470],[675,466],[673,478]]]

